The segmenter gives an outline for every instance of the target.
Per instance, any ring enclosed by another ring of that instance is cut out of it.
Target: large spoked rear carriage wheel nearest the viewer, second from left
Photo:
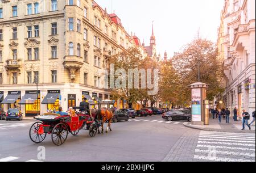
[[[68,128],[65,124],[59,123],[54,126],[52,130],[52,142],[53,144],[60,146],[68,137]]]

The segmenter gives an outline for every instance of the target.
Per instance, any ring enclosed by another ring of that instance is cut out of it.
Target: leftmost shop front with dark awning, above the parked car
[[[7,104],[7,109],[10,108],[18,108],[20,109],[20,91],[8,91],[8,94],[5,99],[1,102],[1,104]]]

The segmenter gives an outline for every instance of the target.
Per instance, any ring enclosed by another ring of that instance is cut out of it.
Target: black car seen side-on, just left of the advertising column
[[[192,121],[191,113],[187,111],[179,111],[179,110],[173,110],[166,113],[163,113],[163,119],[172,121],[172,120],[180,120],[180,121]]]

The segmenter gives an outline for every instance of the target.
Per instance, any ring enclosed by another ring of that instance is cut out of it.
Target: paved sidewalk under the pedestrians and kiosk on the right
[[[249,121],[250,122],[250,121]],[[210,119],[209,125],[192,125],[184,124],[188,128],[205,130],[205,131],[216,131],[216,132],[236,132],[236,133],[255,133],[255,123],[251,126],[251,130],[248,127],[245,127],[245,130],[242,129],[242,121],[233,121],[230,120],[229,124],[226,123],[226,120],[222,119],[221,123],[218,123],[217,119]]]

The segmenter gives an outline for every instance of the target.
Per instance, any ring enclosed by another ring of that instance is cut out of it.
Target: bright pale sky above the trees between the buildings
[[[152,21],[156,50],[168,57],[192,41],[197,33],[217,41],[224,0],[95,0],[108,13],[115,12],[126,31],[150,43]]]

